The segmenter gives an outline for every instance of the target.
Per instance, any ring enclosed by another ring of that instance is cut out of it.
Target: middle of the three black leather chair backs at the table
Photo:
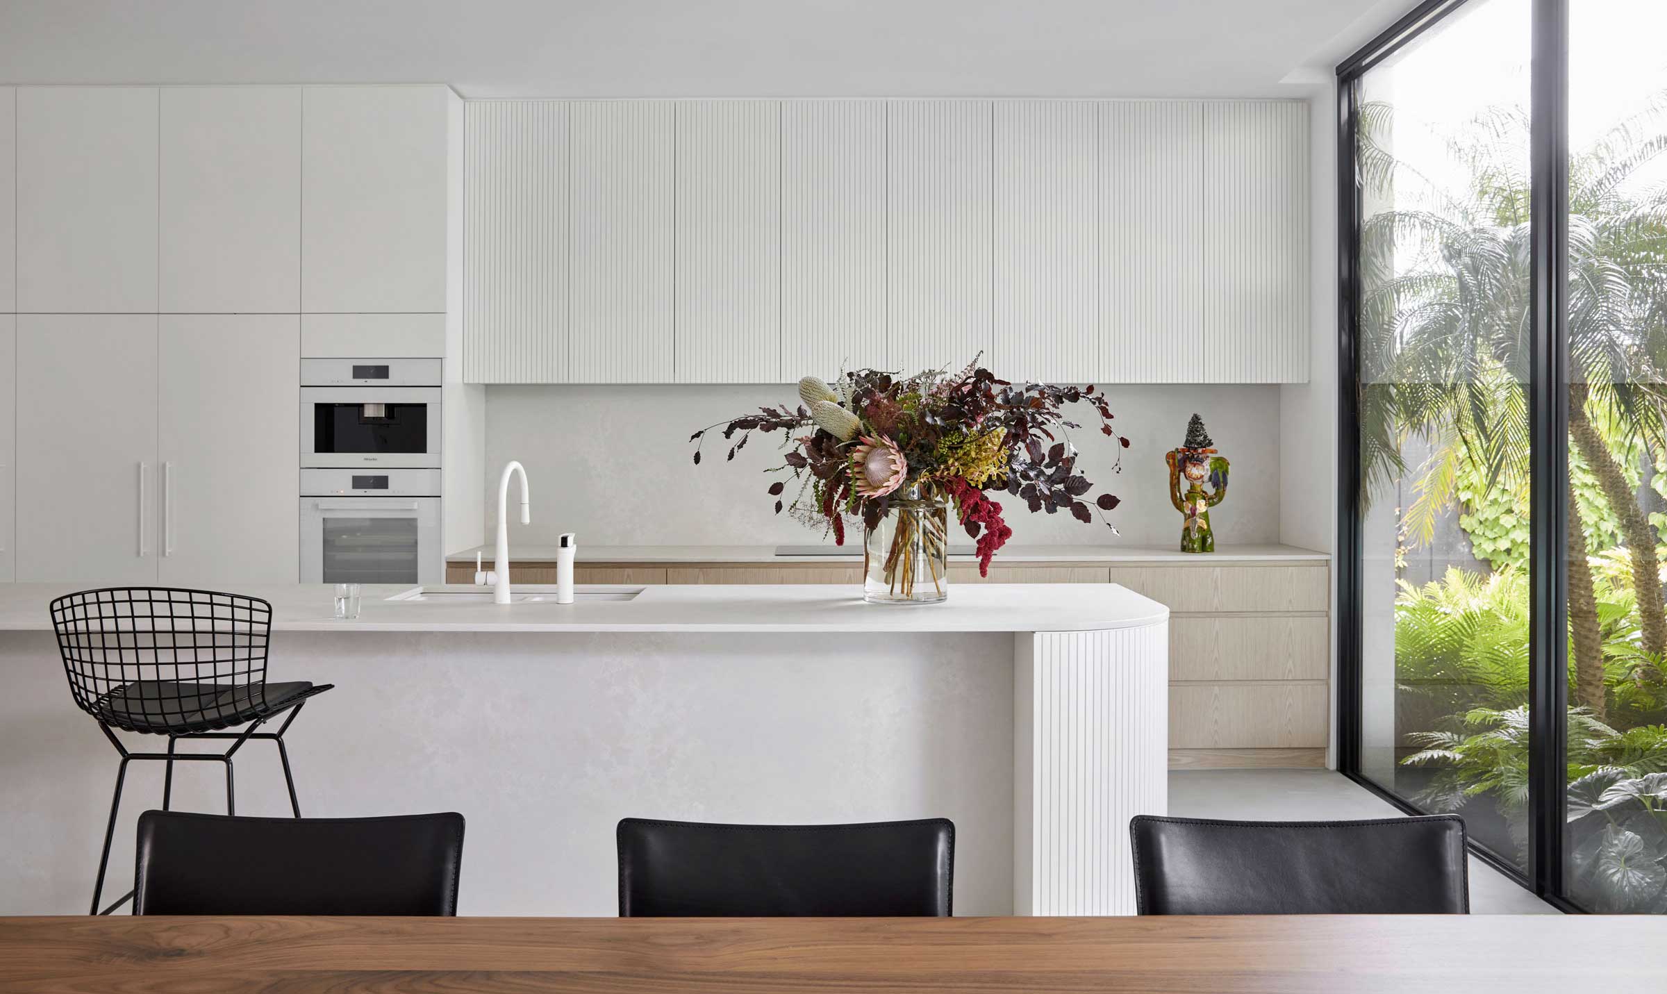
[[[949,819],[713,826],[628,817],[620,917],[934,916],[955,881]]]

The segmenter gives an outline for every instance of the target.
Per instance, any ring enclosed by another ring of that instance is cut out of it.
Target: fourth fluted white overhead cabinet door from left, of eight
[[[885,103],[785,102],[782,379],[885,362]]]

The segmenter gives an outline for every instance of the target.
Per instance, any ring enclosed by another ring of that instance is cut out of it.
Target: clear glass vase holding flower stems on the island
[[[937,604],[949,597],[949,502],[892,497],[880,522],[864,529],[862,599],[869,604]]]

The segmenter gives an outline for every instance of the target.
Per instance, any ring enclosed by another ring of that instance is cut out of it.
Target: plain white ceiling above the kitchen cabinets
[[[0,82],[443,82],[463,97],[1294,95],[1412,2],[0,0]]]

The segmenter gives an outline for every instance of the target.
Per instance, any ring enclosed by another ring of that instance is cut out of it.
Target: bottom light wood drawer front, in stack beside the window
[[[1317,684],[1170,684],[1170,749],[1324,747],[1330,689]]]

